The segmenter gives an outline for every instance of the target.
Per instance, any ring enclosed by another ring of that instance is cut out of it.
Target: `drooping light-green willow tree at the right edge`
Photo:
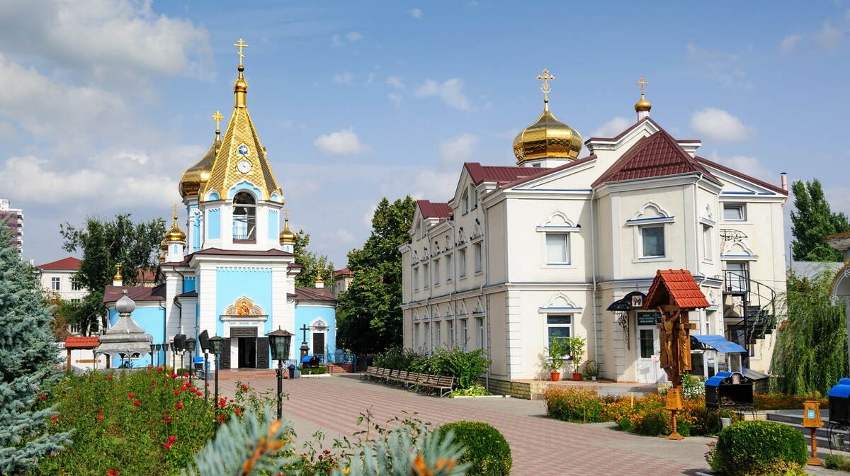
[[[847,377],[847,320],[843,303],[830,295],[834,273],[824,269],[812,279],[789,276],[778,298],[788,319],[779,326],[774,346],[775,390],[784,394],[826,394]]]

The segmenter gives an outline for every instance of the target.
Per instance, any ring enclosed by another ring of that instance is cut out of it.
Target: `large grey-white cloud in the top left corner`
[[[211,79],[209,33],[190,20],[156,14],[151,2],[4,0],[0,43],[81,76],[137,84],[151,77]]]

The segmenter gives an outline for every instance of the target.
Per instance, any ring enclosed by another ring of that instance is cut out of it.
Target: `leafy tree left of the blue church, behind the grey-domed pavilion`
[[[117,263],[121,263],[125,286],[135,286],[144,271],[152,271],[159,264],[157,252],[165,235],[165,221],[155,218],[133,223],[129,213],[111,220],[86,218],[86,224],[77,228],[65,222],[59,225],[59,234],[65,240],[67,252],[82,251],[77,281],[88,289],[77,313],[77,324],[88,335],[98,319],[105,326],[104,290],[112,284]]]

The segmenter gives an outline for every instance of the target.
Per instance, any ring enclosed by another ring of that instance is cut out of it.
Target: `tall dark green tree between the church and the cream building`
[[[384,197],[372,216],[372,232],[363,249],[348,253],[354,279],[339,297],[337,336],[355,354],[401,345],[399,245],[410,239],[415,208],[410,195],[393,203]]]

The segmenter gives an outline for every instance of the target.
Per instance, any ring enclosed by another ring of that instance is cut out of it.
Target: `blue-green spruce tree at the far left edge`
[[[17,474],[69,443],[49,433],[55,414],[44,407],[60,376],[59,349],[37,275],[20,261],[11,233],[0,224],[0,473]],[[42,397],[44,395],[44,397]]]

